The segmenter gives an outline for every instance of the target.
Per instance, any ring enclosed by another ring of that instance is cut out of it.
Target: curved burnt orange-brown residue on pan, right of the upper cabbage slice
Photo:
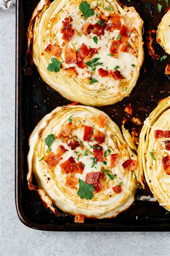
[[[146,46],[148,49],[148,54],[152,57],[152,59],[160,59],[161,56],[155,52],[155,49],[153,47],[154,38],[156,38],[156,30],[148,30],[146,36]]]

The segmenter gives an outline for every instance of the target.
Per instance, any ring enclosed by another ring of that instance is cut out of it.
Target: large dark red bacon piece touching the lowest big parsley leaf
[[[101,178],[102,174],[99,171],[86,174],[85,183],[94,186],[95,191],[93,193],[98,193],[101,190],[101,183],[99,181]]]

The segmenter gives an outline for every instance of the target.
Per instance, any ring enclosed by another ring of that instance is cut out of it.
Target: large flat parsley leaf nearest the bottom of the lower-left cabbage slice
[[[77,192],[77,195],[81,199],[86,198],[86,200],[91,200],[93,197],[92,192],[94,192],[94,186],[85,183],[79,178],[79,191]]]

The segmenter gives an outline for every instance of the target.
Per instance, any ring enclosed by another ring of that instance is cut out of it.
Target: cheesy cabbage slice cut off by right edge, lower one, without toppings
[[[154,197],[170,210],[170,176],[164,171],[162,158],[169,154],[169,151],[162,147],[162,141],[169,138],[155,139],[155,130],[170,130],[170,97],[160,101],[154,111],[146,118],[138,147],[138,162],[140,170],[145,174],[146,182]],[[154,154],[154,158],[151,153]]]

